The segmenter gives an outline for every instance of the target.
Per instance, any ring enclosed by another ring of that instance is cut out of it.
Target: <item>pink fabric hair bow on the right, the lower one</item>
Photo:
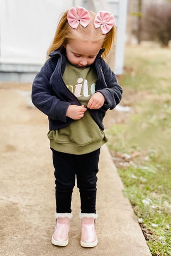
[[[95,28],[101,28],[101,34],[107,34],[114,26],[114,14],[106,11],[100,11],[96,14],[94,20]]]

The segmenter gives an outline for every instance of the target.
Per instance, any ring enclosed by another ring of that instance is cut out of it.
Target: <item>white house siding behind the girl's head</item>
[[[115,15],[118,35],[113,61],[115,73],[121,74],[127,0],[0,0],[0,81],[32,81],[46,61],[61,13],[92,2],[94,11],[108,10]]]

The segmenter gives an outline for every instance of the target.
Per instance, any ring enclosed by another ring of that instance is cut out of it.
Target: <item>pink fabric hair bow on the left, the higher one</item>
[[[86,28],[90,22],[90,14],[83,7],[72,7],[67,13],[67,21],[72,28],[78,28],[79,23]]]

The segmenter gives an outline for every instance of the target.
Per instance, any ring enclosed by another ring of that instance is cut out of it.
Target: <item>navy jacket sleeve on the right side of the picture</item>
[[[101,92],[105,97],[104,106],[108,109],[113,109],[121,101],[122,88],[117,83],[117,78],[114,72],[110,69],[107,63],[102,59],[102,71],[105,77],[107,87],[96,92]]]

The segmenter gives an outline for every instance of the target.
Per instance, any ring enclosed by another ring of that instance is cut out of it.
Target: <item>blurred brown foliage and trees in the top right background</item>
[[[168,45],[171,39],[170,0],[129,0],[128,10],[130,34],[138,43],[155,41],[161,46]]]

